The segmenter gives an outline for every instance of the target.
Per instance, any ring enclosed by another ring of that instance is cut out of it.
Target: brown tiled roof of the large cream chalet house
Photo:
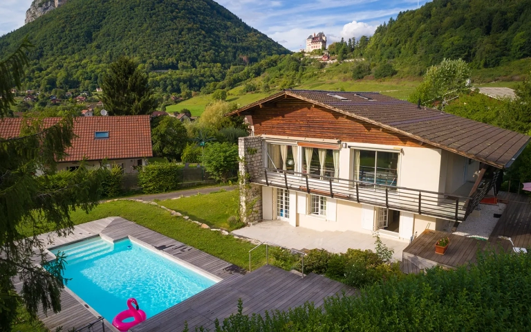
[[[419,109],[411,102],[375,92],[285,90],[236,109],[227,116],[250,115],[249,111],[260,104],[274,102],[286,96],[305,100],[498,168],[510,167],[531,140],[530,136],[521,133],[437,109]]]

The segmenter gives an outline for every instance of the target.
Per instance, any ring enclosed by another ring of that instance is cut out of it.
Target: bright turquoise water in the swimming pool
[[[51,251],[66,255],[68,288],[109,322],[130,297],[149,318],[216,283],[130,239],[95,237]]]

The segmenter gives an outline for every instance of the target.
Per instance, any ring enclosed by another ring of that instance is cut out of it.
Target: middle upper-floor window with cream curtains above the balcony
[[[339,178],[339,150],[302,148],[302,172]]]

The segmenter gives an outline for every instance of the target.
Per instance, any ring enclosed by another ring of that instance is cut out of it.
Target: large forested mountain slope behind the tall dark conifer
[[[25,83],[43,91],[94,89],[121,55],[147,71],[175,71],[165,92],[180,92],[223,80],[230,66],[290,53],[212,0],[69,0],[1,37],[0,58],[26,35],[35,48]]]

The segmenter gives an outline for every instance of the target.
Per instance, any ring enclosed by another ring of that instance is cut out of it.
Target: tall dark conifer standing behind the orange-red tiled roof
[[[157,107],[147,74],[129,57],[120,57],[109,65],[102,89],[103,102],[111,116],[149,114]]]

